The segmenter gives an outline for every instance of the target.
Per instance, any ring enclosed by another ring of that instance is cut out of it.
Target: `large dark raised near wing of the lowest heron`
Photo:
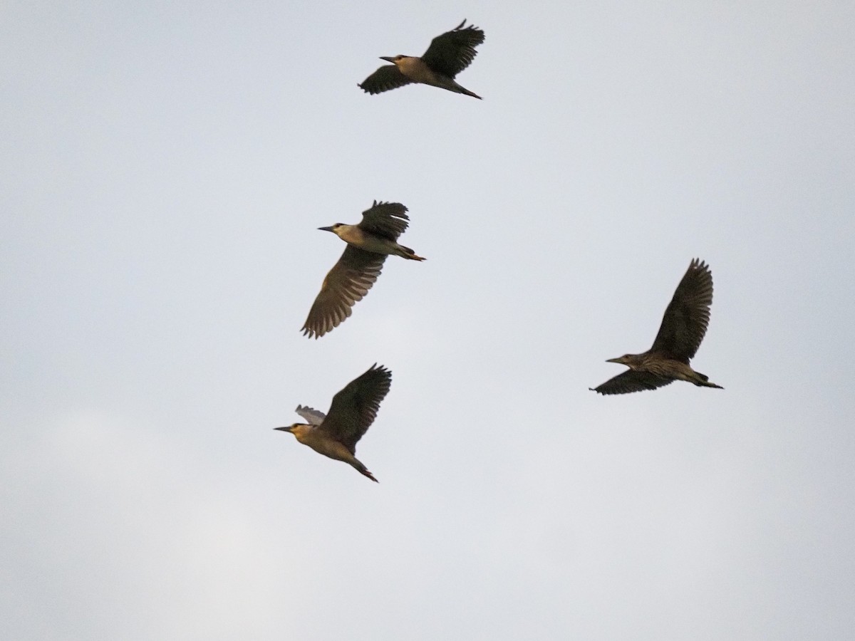
[[[392,385],[392,372],[377,363],[333,397],[323,429],[333,438],[345,444],[351,454],[356,454],[357,441],[368,431],[380,402]]]

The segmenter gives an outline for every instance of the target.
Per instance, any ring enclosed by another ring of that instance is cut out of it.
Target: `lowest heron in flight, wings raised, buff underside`
[[[374,474],[357,460],[357,442],[374,422],[390,385],[392,372],[374,363],[368,372],[351,380],[333,397],[329,414],[298,405],[298,415],[309,422],[274,429],[291,432],[300,443],[309,445],[318,454],[344,461],[377,483]]]

